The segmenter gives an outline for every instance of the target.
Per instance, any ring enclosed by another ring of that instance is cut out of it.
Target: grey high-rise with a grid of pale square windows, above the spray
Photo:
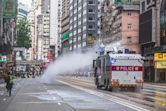
[[[98,38],[98,1],[70,0],[69,50],[86,49]]]

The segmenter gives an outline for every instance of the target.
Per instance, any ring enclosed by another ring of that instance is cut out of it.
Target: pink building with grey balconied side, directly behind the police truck
[[[139,0],[103,2],[102,42],[126,53],[140,53]]]

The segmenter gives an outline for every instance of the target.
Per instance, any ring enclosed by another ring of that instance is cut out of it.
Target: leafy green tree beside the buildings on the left
[[[31,47],[30,26],[26,18],[17,22],[17,46],[29,49]]]

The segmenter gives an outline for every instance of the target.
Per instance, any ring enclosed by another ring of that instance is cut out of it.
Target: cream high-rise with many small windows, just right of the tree
[[[48,61],[50,46],[50,0],[32,1],[29,13],[32,36],[32,57]]]

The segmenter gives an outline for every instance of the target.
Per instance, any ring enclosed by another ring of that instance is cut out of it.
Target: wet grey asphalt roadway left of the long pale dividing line
[[[40,78],[17,81],[12,97],[3,84],[0,93],[0,111],[149,111],[63,82],[43,84]]]

